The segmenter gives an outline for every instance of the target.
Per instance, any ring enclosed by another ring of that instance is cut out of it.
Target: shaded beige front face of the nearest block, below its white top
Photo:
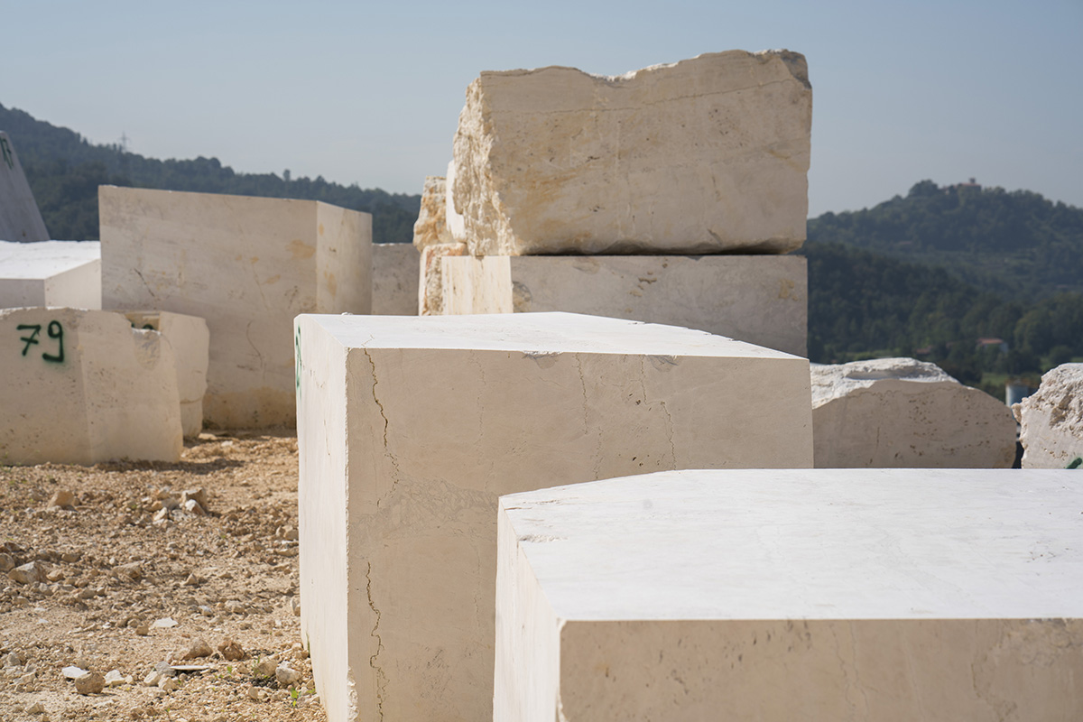
[[[560,636],[566,722],[1083,714],[1079,619],[569,621]]]

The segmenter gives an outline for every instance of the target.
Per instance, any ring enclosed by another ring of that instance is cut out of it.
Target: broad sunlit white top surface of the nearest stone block
[[[1074,471],[671,471],[500,510],[569,620],[1083,618]]]

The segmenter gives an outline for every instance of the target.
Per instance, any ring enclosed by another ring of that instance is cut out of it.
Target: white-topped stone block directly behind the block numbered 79
[[[0,309],[102,307],[102,245],[96,240],[0,240]]]

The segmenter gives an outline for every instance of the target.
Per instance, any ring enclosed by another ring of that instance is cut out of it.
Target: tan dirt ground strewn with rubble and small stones
[[[0,720],[326,720],[296,529],[291,432],[205,433],[175,464],[0,467]],[[160,662],[175,677],[147,685]],[[66,667],[130,681],[80,694]]]

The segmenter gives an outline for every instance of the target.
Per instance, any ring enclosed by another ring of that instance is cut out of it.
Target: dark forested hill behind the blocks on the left
[[[12,139],[49,235],[97,239],[97,186],[227,193],[240,196],[323,200],[373,214],[375,242],[409,242],[420,196],[328,183],[323,176],[282,178],[237,173],[218,158],[157,160],[119,145],[95,145],[17,108],[0,105],[0,130]],[[285,173],[284,173],[285,175]],[[418,187],[423,179],[418,179]]]

